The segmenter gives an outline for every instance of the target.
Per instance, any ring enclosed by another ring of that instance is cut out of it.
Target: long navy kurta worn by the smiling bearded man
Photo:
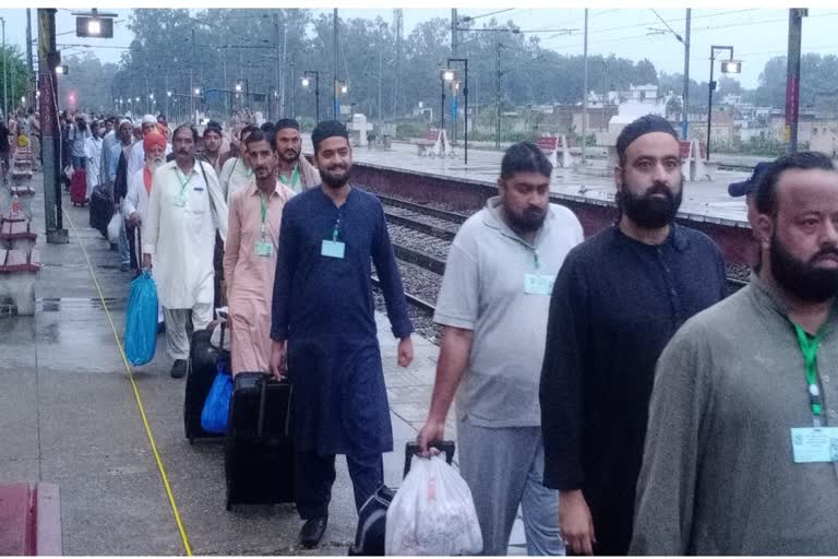
[[[322,188],[285,206],[271,337],[288,342],[297,450],[369,455],[393,450],[370,281],[381,281],[393,334],[412,331],[381,203],[352,189],[343,206]],[[321,254],[337,225],[345,258]]]

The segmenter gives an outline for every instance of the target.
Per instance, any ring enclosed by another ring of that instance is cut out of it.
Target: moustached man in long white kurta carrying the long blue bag
[[[146,134],[147,135],[147,134]],[[152,178],[143,223],[143,267],[152,267],[166,320],[171,376],[187,373],[189,337],[213,320],[213,248],[216,230],[227,237],[227,204],[213,169],[194,157],[197,131],[182,124],[172,134],[175,160]]]

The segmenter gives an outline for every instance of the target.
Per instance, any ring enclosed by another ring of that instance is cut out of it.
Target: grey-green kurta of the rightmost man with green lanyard
[[[817,349],[822,425],[838,426],[838,308]],[[838,462],[795,464],[812,427],[786,306],[759,278],[690,320],[658,361],[632,555],[834,556]]]

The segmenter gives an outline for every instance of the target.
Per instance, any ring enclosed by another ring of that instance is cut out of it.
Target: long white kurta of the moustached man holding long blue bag
[[[227,203],[215,170],[203,164],[205,181],[200,165],[195,160],[185,186],[173,160],[157,169],[152,179],[143,253],[153,255],[157,298],[167,309],[213,302],[215,231],[217,228],[222,239],[227,238]]]

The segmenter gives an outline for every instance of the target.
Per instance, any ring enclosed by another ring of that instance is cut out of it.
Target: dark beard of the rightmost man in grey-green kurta
[[[825,255],[838,257],[838,247],[826,247],[803,262],[792,254],[775,233],[771,237],[771,275],[777,283],[800,300],[824,302],[838,295],[838,269],[816,266]]]

